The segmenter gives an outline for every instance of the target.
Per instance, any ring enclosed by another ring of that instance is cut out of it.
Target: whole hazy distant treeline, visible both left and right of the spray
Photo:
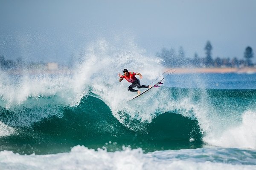
[[[236,57],[230,58],[215,58],[212,59],[212,45],[207,41],[206,46],[204,47],[206,56],[204,58],[199,58],[198,54],[195,53],[194,58],[186,58],[185,52],[182,46],[176,54],[175,49],[166,49],[163,48],[160,52],[157,52],[156,56],[162,58],[163,65],[167,67],[244,67],[244,66],[254,66],[251,59],[253,58],[253,49],[250,46],[247,46],[244,50],[244,59],[238,59]],[[0,69],[17,69],[20,67],[28,69],[36,69],[46,65],[46,63],[27,63],[23,62],[21,58],[17,58],[16,61],[6,60],[4,56],[0,56]]]

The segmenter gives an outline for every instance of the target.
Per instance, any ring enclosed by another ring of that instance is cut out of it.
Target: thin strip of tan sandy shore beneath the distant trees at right
[[[188,73],[256,73],[254,67],[243,67],[243,68],[175,68],[176,74],[188,74]],[[168,70],[166,68],[166,70]]]

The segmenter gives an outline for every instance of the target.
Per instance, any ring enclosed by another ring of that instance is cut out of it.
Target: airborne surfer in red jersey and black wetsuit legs
[[[124,69],[123,73],[124,73],[124,75],[121,75],[120,73],[118,73],[118,76],[120,77],[119,82],[121,82],[124,78],[125,78],[125,80],[130,82],[131,85],[128,87],[128,91],[137,92],[138,95],[140,95],[140,91],[133,89],[134,87],[137,86],[138,89],[140,89],[140,88],[150,88],[150,86],[140,85],[140,80],[135,77],[135,75],[139,75],[140,79],[143,78],[142,75],[139,72],[128,72],[127,69]]]

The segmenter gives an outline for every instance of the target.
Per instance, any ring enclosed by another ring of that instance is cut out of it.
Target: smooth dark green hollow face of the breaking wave
[[[5,112],[7,117],[12,114]],[[31,127],[19,127],[14,135],[0,138],[1,143],[5,143],[1,150],[27,154],[59,153],[79,144],[94,149],[107,147],[112,151],[122,150],[125,145],[141,147],[148,152],[195,148],[202,144],[197,121],[179,114],[166,112],[151,123],[145,123],[143,128],[128,129],[116,120],[103,101],[88,96],[77,107],[65,107],[61,118],[44,118]],[[191,138],[193,142],[189,142]]]

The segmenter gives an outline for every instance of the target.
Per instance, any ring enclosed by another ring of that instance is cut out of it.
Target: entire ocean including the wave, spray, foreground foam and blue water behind
[[[72,74],[1,71],[1,170],[256,170],[256,74],[173,73],[127,102],[117,74],[148,85],[161,60],[101,47]]]

